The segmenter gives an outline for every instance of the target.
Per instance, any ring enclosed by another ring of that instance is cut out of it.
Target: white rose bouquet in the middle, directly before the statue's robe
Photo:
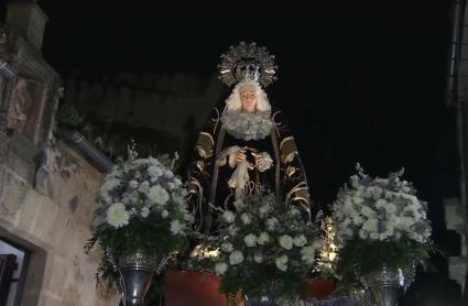
[[[219,251],[214,272],[221,292],[252,294],[275,282],[279,296],[294,296],[323,243],[308,214],[277,205],[272,194],[238,200],[236,208],[215,208],[220,231],[207,243]]]

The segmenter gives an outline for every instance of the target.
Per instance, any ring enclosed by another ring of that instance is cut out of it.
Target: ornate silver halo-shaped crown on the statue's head
[[[266,87],[276,80],[277,66],[274,65],[274,55],[270,55],[265,47],[259,47],[257,43],[240,42],[221,55],[218,69],[218,77],[228,86],[242,79],[252,79]]]

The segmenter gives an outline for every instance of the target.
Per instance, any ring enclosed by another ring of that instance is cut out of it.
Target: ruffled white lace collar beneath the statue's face
[[[270,135],[272,121],[269,112],[240,112],[228,110],[222,113],[224,129],[232,136],[242,140],[261,140]]]

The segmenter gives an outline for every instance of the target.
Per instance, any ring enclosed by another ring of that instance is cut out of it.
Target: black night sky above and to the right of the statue
[[[209,75],[230,45],[254,41],[277,58],[266,92],[290,120],[313,198],[333,201],[357,162],[372,176],[404,166],[447,240],[442,200],[458,196],[455,109],[445,105],[449,1],[145,2],[40,1],[44,57],[64,76]]]

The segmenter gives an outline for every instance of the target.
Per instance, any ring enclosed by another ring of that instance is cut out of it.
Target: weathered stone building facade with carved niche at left
[[[102,173],[54,138],[63,85],[41,55],[46,20],[35,1],[11,1],[0,32],[0,240],[29,254],[14,305],[118,305],[83,249]]]

